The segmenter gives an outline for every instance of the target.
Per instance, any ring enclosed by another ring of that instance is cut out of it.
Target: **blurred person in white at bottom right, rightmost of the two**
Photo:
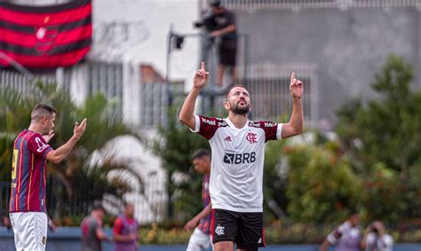
[[[385,226],[377,221],[367,227],[361,248],[366,251],[392,251],[393,238],[385,233]]]

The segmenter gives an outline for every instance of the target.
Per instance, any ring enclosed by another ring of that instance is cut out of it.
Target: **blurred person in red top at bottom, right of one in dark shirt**
[[[134,205],[124,202],[123,214],[117,216],[113,227],[115,251],[139,249],[139,224],[134,218]]]

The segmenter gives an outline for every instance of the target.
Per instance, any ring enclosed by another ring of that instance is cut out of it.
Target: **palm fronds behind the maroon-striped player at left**
[[[83,214],[93,200],[101,200],[104,193],[122,198],[131,188],[122,176],[108,175],[113,170],[130,170],[131,160],[116,161],[114,153],[102,153],[100,162],[92,161],[92,153],[104,148],[110,139],[131,135],[140,139],[136,127],[123,120],[123,115],[112,102],[97,94],[85,100],[83,106],[75,106],[70,94],[55,84],[36,82],[25,92],[0,87],[0,181],[10,181],[12,144],[20,130],[28,128],[30,112],[37,103],[46,103],[57,111],[56,136],[50,144],[53,148],[63,145],[73,135],[75,122],[88,118],[83,137],[60,164],[47,164],[49,173],[48,198],[50,212],[55,216]],[[131,177],[138,174],[131,171]],[[142,192],[140,189],[139,192]]]

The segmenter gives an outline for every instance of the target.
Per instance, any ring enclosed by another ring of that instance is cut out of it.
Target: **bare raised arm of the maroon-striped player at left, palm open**
[[[52,150],[47,153],[47,160],[52,161],[53,163],[60,163],[63,161],[64,158],[68,156],[68,153],[72,151],[73,147],[75,147],[77,141],[79,141],[79,138],[82,137],[84,129],[86,129],[86,119],[83,119],[83,122],[75,123],[75,129],[73,129],[73,136],[70,137],[68,142],[66,142],[64,145],[61,145],[56,150]]]

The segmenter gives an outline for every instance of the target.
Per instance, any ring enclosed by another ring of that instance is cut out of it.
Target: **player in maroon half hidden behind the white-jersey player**
[[[209,194],[211,153],[205,149],[199,149],[193,153],[192,161],[196,172],[203,174],[203,210],[191,219],[184,229],[187,231],[195,230],[188,241],[187,251],[200,251],[203,248],[211,247],[211,196]],[[199,225],[196,227],[197,224]]]

